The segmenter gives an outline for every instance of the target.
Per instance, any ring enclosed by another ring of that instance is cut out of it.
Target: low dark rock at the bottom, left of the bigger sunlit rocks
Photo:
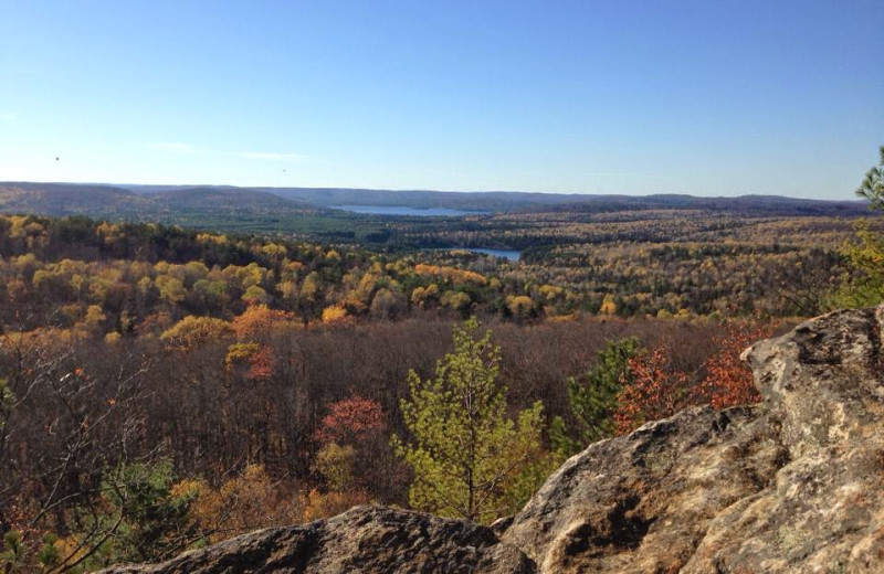
[[[105,574],[488,572],[529,574],[534,564],[494,532],[465,520],[358,507],[303,527],[259,530],[168,562]]]

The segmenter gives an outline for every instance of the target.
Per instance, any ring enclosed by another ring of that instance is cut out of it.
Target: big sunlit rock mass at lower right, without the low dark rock
[[[761,405],[590,446],[503,539],[540,572],[884,572],[882,319],[841,311],[757,343]]]

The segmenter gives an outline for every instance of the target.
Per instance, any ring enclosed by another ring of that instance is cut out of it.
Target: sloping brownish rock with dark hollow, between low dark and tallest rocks
[[[768,488],[786,450],[757,407],[691,408],[568,460],[503,539],[540,572],[678,572],[708,522]]]

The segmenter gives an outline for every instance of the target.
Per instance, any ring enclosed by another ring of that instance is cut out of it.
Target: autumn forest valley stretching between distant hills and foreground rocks
[[[370,501],[492,522],[592,442],[757,402],[743,349],[884,293],[880,221],[382,224],[398,246],[0,215],[6,567],[156,561]],[[422,248],[451,245],[525,252]]]

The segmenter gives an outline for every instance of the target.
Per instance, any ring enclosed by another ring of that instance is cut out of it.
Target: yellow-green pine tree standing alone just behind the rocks
[[[413,470],[412,507],[487,523],[517,510],[546,478],[543,404],[507,417],[499,361],[491,331],[478,338],[470,319],[454,328],[454,352],[436,363],[434,379],[409,372],[411,398],[401,408],[413,442],[393,437],[393,447]]]

